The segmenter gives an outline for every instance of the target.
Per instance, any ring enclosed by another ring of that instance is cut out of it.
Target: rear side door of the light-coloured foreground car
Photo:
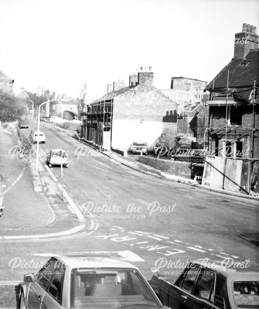
[[[42,299],[41,309],[61,309],[65,265],[61,264],[53,274],[47,292]]]

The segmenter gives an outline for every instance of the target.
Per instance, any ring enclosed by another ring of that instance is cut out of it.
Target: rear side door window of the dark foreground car
[[[214,298],[214,278],[215,273],[208,269],[200,271],[197,283],[194,288],[194,295],[210,300]],[[211,295],[213,294],[213,295]]]

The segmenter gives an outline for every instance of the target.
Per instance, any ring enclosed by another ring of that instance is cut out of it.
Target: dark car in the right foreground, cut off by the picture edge
[[[162,304],[172,309],[255,309],[259,307],[259,273],[253,265],[226,267],[191,262],[176,281],[153,276],[150,284]],[[155,272],[157,269],[152,269]]]

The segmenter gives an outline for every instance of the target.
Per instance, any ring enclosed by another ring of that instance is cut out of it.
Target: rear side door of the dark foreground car
[[[201,268],[192,294],[187,301],[190,309],[212,309],[215,290],[215,272]]]

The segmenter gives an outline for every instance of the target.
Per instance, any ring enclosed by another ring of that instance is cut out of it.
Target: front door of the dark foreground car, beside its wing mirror
[[[173,309],[187,309],[200,266],[187,267],[168,292],[168,307]]]

